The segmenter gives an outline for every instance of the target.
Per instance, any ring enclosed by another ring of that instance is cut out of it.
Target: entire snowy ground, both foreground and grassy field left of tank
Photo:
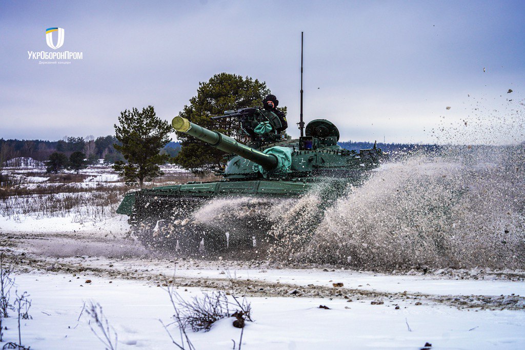
[[[171,170],[178,175],[166,174],[155,185],[185,181],[180,169]],[[169,286],[186,301],[217,290],[228,298],[246,296],[253,322],[243,328],[243,349],[525,347],[521,270],[379,273],[160,256],[129,238],[127,217],[114,213],[125,187],[111,169],[62,174],[64,182],[42,169],[8,171],[20,181],[18,192],[0,200],[0,242],[15,279],[12,298],[15,290],[30,294],[32,319],[20,320],[20,336],[31,349],[103,349],[91,330],[102,336],[87,312],[90,302],[102,306],[118,336],[116,348],[177,348],[159,321],[180,340]],[[67,200],[68,207],[46,207]],[[3,320],[4,343],[18,343],[18,319],[14,311],[10,315]],[[188,328],[187,335],[195,349],[232,349],[234,342],[238,348],[241,330],[234,320],[219,320],[208,332]]]

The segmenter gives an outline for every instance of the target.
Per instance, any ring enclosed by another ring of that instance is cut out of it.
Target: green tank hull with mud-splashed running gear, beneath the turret
[[[129,216],[133,235],[151,251],[181,256],[234,251],[236,257],[254,258],[271,241],[268,231],[272,222],[252,214],[266,211],[272,200],[299,198],[318,185],[255,180],[154,187],[126,194],[117,213]],[[228,222],[228,227],[201,222],[195,216],[215,198],[229,201],[239,197],[253,197],[254,203],[247,200],[237,208],[242,212],[237,213],[237,221]]]

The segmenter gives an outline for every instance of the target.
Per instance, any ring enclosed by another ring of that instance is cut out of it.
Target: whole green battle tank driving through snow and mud
[[[153,187],[124,196],[117,213],[129,216],[134,235],[146,247],[184,254],[250,249],[270,240],[265,235],[271,223],[258,222],[254,228],[254,222],[246,220],[232,230],[199,222],[194,214],[216,198],[299,198],[313,190],[328,203],[345,187],[362,183],[385,157],[375,143],[373,149],[359,152],[342,149],[339,130],[324,119],[312,120],[304,136],[292,140],[272,111],[249,108],[213,119],[221,118],[238,118],[237,139],[246,142],[179,116],[172,121],[176,131],[227,153],[225,166],[215,169],[217,181]]]

